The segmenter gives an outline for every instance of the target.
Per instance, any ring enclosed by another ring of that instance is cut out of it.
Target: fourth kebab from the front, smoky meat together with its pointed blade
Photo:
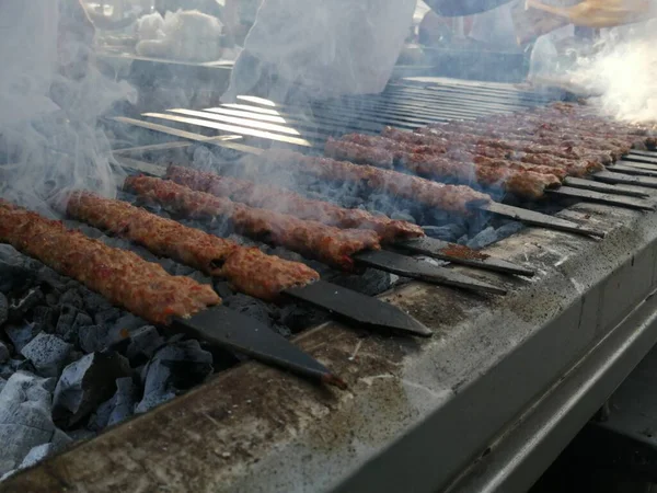
[[[289,213],[301,219],[313,219],[342,228],[372,229],[377,231],[382,243],[414,253],[508,274],[526,276],[534,274],[531,270],[491,257],[466,246],[427,238],[420,227],[411,222],[310,199],[278,186],[261,185],[233,176],[221,176],[175,165],[168,168],[165,177],[197,192],[228,197],[254,207]]]

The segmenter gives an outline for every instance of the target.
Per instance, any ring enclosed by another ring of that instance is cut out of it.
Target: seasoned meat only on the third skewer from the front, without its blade
[[[191,217],[228,217],[244,234],[262,238],[345,271],[355,267],[353,254],[381,248],[374,231],[337,229],[318,221],[249,207],[228,198],[193,191],[172,181],[129,176],[124,186],[178,214]]]

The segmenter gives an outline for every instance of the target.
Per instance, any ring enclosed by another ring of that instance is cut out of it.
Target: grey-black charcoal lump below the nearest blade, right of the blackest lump
[[[143,368],[143,399],[135,412],[143,413],[171,399],[181,390],[203,382],[212,374],[212,355],[198,341],[181,341],[162,347]]]

